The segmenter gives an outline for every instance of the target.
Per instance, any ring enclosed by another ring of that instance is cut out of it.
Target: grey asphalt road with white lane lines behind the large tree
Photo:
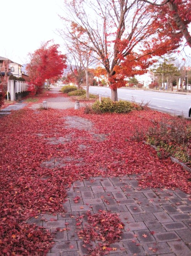
[[[110,97],[111,90],[107,87],[90,86],[89,92]],[[159,111],[165,111],[173,115],[188,117],[188,109],[191,106],[191,94],[175,94],[167,92],[155,92],[133,89],[118,89],[118,99],[143,102]]]

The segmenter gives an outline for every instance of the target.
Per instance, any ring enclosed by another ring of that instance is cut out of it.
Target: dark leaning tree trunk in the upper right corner
[[[167,5],[169,9],[173,12],[173,18],[174,18],[174,21],[176,22],[176,25],[184,35],[189,47],[191,47],[191,35],[189,34],[188,29],[186,28],[185,24],[183,23],[180,16],[178,15],[176,4],[174,2],[168,2]]]

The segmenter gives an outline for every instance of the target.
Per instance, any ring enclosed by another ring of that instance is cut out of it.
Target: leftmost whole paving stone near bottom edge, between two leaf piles
[[[78,246],[76,241],[56,242],[51,249],[51,253],[62,251],[72,252],[77,250]]]

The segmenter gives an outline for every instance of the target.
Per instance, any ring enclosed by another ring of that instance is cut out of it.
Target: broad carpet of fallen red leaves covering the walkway
[[[88,119],[92,126],[70,127],[68,116]],[[135,128],[146,131],[163,116],[154,111],[98,115],[84,114],[82,108],[26,108],[0,119],[1,254],[45,255],[52,237],[26,220],[63,211],[66,188],[76,180],[139,173],[143,187],[190,193],[189,172],[132,139]]]

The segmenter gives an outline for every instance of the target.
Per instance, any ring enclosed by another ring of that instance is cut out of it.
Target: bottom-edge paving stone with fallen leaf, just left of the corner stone
[[[144,250],[147,252],[147,255],[160,255],[163,256],[171,256],[171,249],[167,243],[151,243],[151,244],[143,244]]]

